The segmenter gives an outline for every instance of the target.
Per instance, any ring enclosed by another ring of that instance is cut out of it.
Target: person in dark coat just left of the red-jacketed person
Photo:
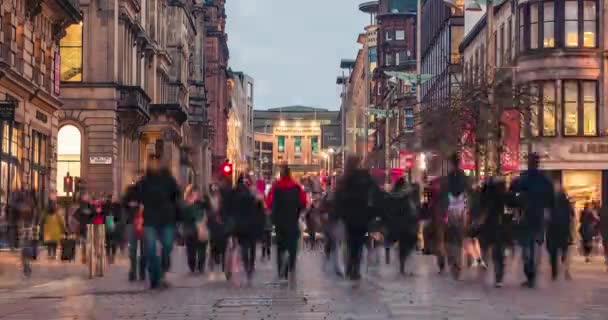
[[[247,279],[251,280],[255,270],[256,243],[264,231],[264,208],[241,175],[234,192],[229,214],[234,218],[234,234],[241,248],[241,257]]]

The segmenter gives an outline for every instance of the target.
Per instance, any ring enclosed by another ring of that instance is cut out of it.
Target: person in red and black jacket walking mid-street
[[[298,241],[300,239],[300,213],[307,206],[306,193],[291,177],[289,167],[281,169],[266,204],[271,211],[277,240],[277,267],[279,278],[287,280],[295,274]],[[293,278],[292,278],[293,279]]]

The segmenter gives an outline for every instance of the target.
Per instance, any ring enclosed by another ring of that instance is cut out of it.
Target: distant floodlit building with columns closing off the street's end
[[[273,174],[284,164],[289,165],[296,176],[318,174],[325,161],[321,127],[337,124],[338,115],[338,111],[305,106],[255,110],[256,144],[272,141]],[[258,154],[255,168],[260,167],[260,161],[263,167],[265,160]]]

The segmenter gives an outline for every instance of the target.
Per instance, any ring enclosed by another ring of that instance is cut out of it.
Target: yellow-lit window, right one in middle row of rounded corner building
[[[597,82],[564,81],[564,135],[596,136]]]

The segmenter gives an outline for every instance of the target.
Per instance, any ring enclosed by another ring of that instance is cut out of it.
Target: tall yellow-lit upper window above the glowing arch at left
[[[82,25],[73,24],[59,41],[61,81],[82,81]]]

